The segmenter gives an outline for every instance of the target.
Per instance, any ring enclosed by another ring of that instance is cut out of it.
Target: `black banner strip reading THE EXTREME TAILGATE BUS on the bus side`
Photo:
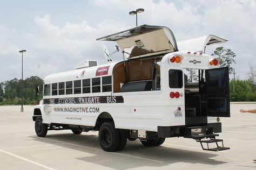
[[[123,96],[45,98],[44,104],[124,103]]]

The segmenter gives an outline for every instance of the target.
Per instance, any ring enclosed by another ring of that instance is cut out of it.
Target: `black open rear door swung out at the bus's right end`
[[[230,117],[228,67],[205,70],[207,116]]]

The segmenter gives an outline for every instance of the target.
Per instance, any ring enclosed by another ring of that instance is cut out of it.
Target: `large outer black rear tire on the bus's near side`
[[[104,151],[116,151],[119,145],[119,132],[112,122],[105,122],[99,128],[99,145]]]

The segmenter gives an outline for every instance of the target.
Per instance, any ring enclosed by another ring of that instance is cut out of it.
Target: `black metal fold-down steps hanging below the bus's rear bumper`
[[[203,150],[207,150],[207,151],[223,151],[223,150],[229,150],[230,149],[230,147],[224,147],[223,139],[215,139],[215,137],[214,138],[210,138],[208,140],[197,139],[197,141],[200,142],[201,147],[203,148]],[[218,142],[221,142],[222,146],[219,146]],[[207,148],[205,148],[203,146],[203,143],[207,144]],[[209,144],[210,143],[216,143],[217,147],[209,148]]]

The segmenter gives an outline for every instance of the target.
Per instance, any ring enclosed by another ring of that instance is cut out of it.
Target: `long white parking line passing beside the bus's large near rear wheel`
[[[30,136],[30,135],[28,135],[28,134],[19,134],[19,135]],[[33,136],[31,136],[31,137],[33,137]],[[39,137],[36,137],[36,138],[39,138]],[[59,141],[59,140],[53,140],[53,139],[47,139],[47,138],[40,138],[40,139],[51,140],[51,141],[57,141],[57,142],[59,142],[59,143],[64,143],[64,144],[69,144],[69,145],[73,145],[73,146],[89,148],[89,149],[91,149],[91,150],[97,150],[97,151],[105,152],[105,151],[103,151],[103,150],[101,150],[101,149],[98,149],[98,148],[93,148],[93,147],[88,147],[88,146],[82,146],[82,145],[72,144],[72,143],[63,142],[63,141]],[[117,152],[107,152],[107,153],[117,154],[117,155],[123,155],[123,156],[126,156],[126,157],[137,158],[137,159],[144,159],[144,160],[147,160],[147,161],[153,161],[153,162],[158,162],[158,163],[164,163],[163,161],[158,161],[158,160],[154,160],[154,159],[147,159],[147,158],[143,158],[143,157],[137,157],[137,156],[133,156],[133,155],[129,155],[129,154],[123,154],[123,153],[117,153]]]

